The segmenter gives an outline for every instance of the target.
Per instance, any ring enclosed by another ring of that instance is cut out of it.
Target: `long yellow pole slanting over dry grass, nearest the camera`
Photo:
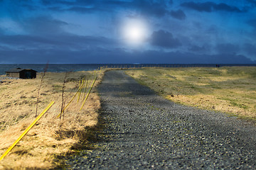
[[[33,127],[33,125],[35,125],[35,124],[37,123],[37,121],[43,116],[43,114],[46,113],[46,112],[49,110],[49,108],[50,108],[51,106],[53,106],[53,103],[54,103],[54,101],[52,101],[52,102],[45,108],[45,110],[44,110],[42,113],[40,113],[40,115],[38,115],[38,117],[36,118],[36,120],[34,120],[33,123],[31,123],[31,125],[29,125],[28,128],[26,128],[26,130],[21,134],[20,137],[18,137],[18,139],[14,142],[14,144],[11,145],[11,147],[9,147],[9,148],[6,150],[6,152],[4,152],[4,154],[0,157],[0,161],[1,161],[1,159],[4,159],[4,157],[6,156],[6,154],[8,154],[8,153],[11,151],[11,149],[13,149],[13,148],[16,146],[16,144],[22,139],[22,137],[24,137],[24,136],[27,134],[27,132],[28,132],[29,130],[31,130],[31,128]]]

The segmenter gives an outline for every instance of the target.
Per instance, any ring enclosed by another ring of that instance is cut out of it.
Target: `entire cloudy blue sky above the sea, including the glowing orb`
[[[0,0],[0,64],[256,64],[256,0]]]

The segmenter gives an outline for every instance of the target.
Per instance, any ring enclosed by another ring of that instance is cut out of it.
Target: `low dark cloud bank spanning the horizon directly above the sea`
[[[255,64],[243,55],[195,55],[193,53],[127,52],[122,49],[96,48],[94,50],[72,51],[67,49],[0,50],[0,60],[4,63],[149,63],[149,64]]]

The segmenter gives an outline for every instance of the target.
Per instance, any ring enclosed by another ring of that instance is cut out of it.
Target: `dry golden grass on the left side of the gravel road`
[[[97,72],[99,84],[104,71]],[[0,154],[21,135],[35,119],[37,91],[42,74],[36,79],[4,79],[0,84]],[[65,83],[65,104],[78,90],[80,78],[87,77],[89,85],[95,72],[71,72]],[[82,100],[74,100],[65,110],[65,118],[56,118],[61,110],[65,73],[46,73],[41,87],[38,113],[50,101],[55,104],[43,118],[23,137],[21,142],[0,162],[0,169],[51,169],[58,165],[58,155],[74,152],[75,146],[86,143],[87,129],[97,124],[100,98],[95,89],[80,111]],[[77,99],[77,98],[75,98]]]

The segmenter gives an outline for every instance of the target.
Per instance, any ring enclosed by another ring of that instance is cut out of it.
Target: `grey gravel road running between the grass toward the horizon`
[[[252,123],[167,101],[121,70],[98,90],[106,127],[68,169],[256,169]]]

